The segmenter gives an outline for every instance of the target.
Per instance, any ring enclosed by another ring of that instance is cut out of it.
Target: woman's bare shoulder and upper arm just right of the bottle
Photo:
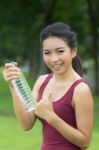
[[[36,82],[33,86],[33,91],[32,91],[33,97],[35,99],[37,99],[37,97],[38,97],[38,91],[39,91],[40,86],[43,84],[43,82],[45,81],[45,79],[47,78],[48,75],[49,74],[41,75],[36,80]]]

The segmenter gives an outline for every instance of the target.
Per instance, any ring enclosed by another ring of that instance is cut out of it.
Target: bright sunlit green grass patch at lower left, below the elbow
[[[39,150],[41,125],[37,121],[30,131],[23,131],[15,118],[0,117],[0,150]]]

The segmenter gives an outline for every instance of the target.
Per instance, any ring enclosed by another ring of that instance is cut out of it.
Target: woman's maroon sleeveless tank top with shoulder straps
[[[43,91],[51,79],[52,74],[49,74],[39,89],[38,101],[42,98]],[[75,111],[72,107],[72,97],[75,87],[85,82],[83,79],[76,80],[68,91],[58,100],[53,102],[55,113],[70,126],[77,128]],[[40,118],[39,118],[40,119]],[[45,120],[42,122],[42,145],[41,150],[82,150],[80,147],[70,143],[64,138],[55,128],[49,125]]]

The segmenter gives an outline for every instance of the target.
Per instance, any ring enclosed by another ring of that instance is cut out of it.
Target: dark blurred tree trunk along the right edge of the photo
[[[98,18],[97,10],[93,9],[91,0],[86,0],[88,6],[88,14],[90,19],[91,34],[93,39],[93,59],[95,69],[95,93],[99,95],[99,51],[98,51]],[[98,6],[95,6],[98,8]]]

